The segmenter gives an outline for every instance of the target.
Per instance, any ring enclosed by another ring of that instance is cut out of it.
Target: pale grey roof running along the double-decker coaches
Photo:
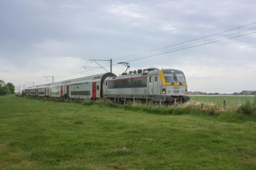
[[[52,87],[52,86],[59,86],[59,85],[65,85],[65,84],[67,85],[67,84],[73,84],[73,83],[100,81],[101,77],[104,75],[107,75],[107,74],[109,74],[109,75],[112,74],[112,76],[115,76],[113,73],[107,72],[107,73],[99,74],[99,75],[93,75],[93,76],[81,77],[81,78],[77,78],[77,79],[70,79],[70,80],[64,80],[64,81],[59,81],[59,82],[54,82],[54,83],[31,86],[31,87],[27,87],[26,89],[44,88],[44,87]]]

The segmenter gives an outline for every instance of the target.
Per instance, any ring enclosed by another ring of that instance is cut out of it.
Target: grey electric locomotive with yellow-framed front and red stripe
[[[187,83],[181,70],[147,68],[106,78],[103,98],[126,98],[173,103],[189,101]]]

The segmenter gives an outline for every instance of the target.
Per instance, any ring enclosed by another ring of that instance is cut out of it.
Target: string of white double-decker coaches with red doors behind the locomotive
[[[113,73],[82,77],[26,88],[26,95],[38,98],[96,99],[102,98],[102,84]]]

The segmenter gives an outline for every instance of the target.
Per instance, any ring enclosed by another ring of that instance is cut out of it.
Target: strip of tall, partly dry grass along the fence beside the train
[[[99,105],[99,106],[107,106],[111,108],[123,108],[124,110],[134,110],[134,111],[143,111],[147,113],[154,114],[193,114],[193,115],[207,115],[207,116],[220,116],[225,120],[228,120],[228,117],[232,117],[230,119],[250,119],[256,120],[256,96],[254,96],[254,100],[250,100],[248,97],[245,101],[241,101],[240,104],[227,104],[220,105],[217,103],[211,102],[199,102],[199,101],[190,101],[184,104],[176,104],[176,105],[160,105],[158,103],[148,102],[145,103],[136,101],[129,102],[125,105],[122,104],[114,104],[110,100],[67,100],[67,99],[43,99],[43,100],[51,100],[56,102],[75,102],[81,103],[85,106],[91,105]],[[223,115],[225,114],[225,115]]]

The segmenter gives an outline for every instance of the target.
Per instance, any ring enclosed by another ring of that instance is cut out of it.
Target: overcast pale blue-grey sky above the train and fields
[[[88,59],[129,56],[256,22],[255,6],[255,1],[234,0],[1,0],[0,79],[30,86],[27,82],[46,83],[44,76],[61,81],[99,74],[104,70],[84,70],[82,65]],[[256,90],[256,35],[130,63],[132,70],[183,70],[189,91]],[[119,75],[125,67],[114,65],[113,70]]]

